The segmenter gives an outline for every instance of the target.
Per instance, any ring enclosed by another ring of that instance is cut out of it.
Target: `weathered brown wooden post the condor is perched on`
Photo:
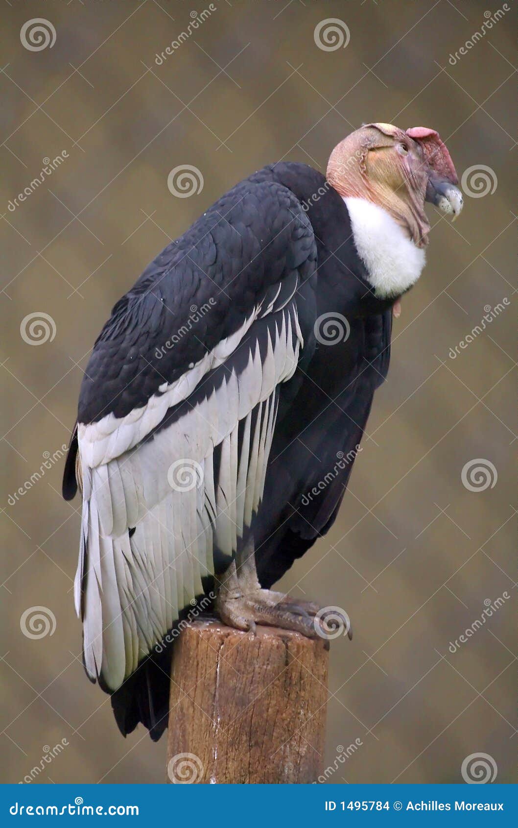
[[[315,782],[328,697],[324,639],[195,621],[175,643],[167,782]]]

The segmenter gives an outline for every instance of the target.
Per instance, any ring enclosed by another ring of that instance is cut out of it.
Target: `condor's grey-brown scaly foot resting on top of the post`
[[[319,607],[310,601],[290,598],[281,592],[232,590],[222,586],[216,600],[216,612],[228,626],[256,631],[257,624],[280,627],[308,638],[338,638],[347,633],[352,638],[348,615],[337,607]]]

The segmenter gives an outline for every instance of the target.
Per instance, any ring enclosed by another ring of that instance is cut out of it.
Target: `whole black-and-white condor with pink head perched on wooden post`
[[[424,202],[455,219],[457,185],[435,130],[364,124],[325,176],[280,161],[233,186],[113,307],[63,496],[83,500],[84,669],[124,736],[163,733],[171,633],[200,601],[252,633],[319,632],[318,604],[271,587],[333,525],[424,268]]]

